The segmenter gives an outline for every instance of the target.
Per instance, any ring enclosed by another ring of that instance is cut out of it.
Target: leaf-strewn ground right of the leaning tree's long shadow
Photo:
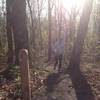
[[[85,77],[91,86],[95,100],[100,100],[100,68],[94,67],[84,71]]]

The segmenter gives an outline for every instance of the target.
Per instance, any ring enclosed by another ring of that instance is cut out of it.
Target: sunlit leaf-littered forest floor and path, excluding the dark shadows
[[[100,100],[100,69],[93,65],[82,65],[82,72],[91,86],[95,100]],[[92,66],[92,67],[91,67]],[[55,85],[52,92],[47,92],[43,80],[54,73],[52,68],[31,70],[32,100],[77,100],[74,86],[68,74],[60,74],[62,80]],[[79,83],[81,84],[81,83]],[[20,74],[15,80],[7,81],[0,76],[0,100],[21,100]],[[90,99],[87,99],[90,100]]]

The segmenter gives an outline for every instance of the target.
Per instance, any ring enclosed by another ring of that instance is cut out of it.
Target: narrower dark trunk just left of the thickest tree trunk
[[[7,40],[8,40],[8,65],[13,64],[13,37],[12,37],[12,23],[11,23],[11,14],[12,14],[12,0],[6,0],[6,28],[7,28]]]

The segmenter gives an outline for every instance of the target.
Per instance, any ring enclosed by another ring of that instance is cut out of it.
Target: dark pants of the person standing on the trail
[[[55,56],[54,70],[56,69],[57,65],[58,65],[58,72],[60,72],[62,67],[62,55]]]

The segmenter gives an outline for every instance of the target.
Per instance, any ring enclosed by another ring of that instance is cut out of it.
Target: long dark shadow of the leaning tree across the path
[[[72,80],[77,100],[95,100],[91,87],[79,67],[68,68],[68,74]]]

